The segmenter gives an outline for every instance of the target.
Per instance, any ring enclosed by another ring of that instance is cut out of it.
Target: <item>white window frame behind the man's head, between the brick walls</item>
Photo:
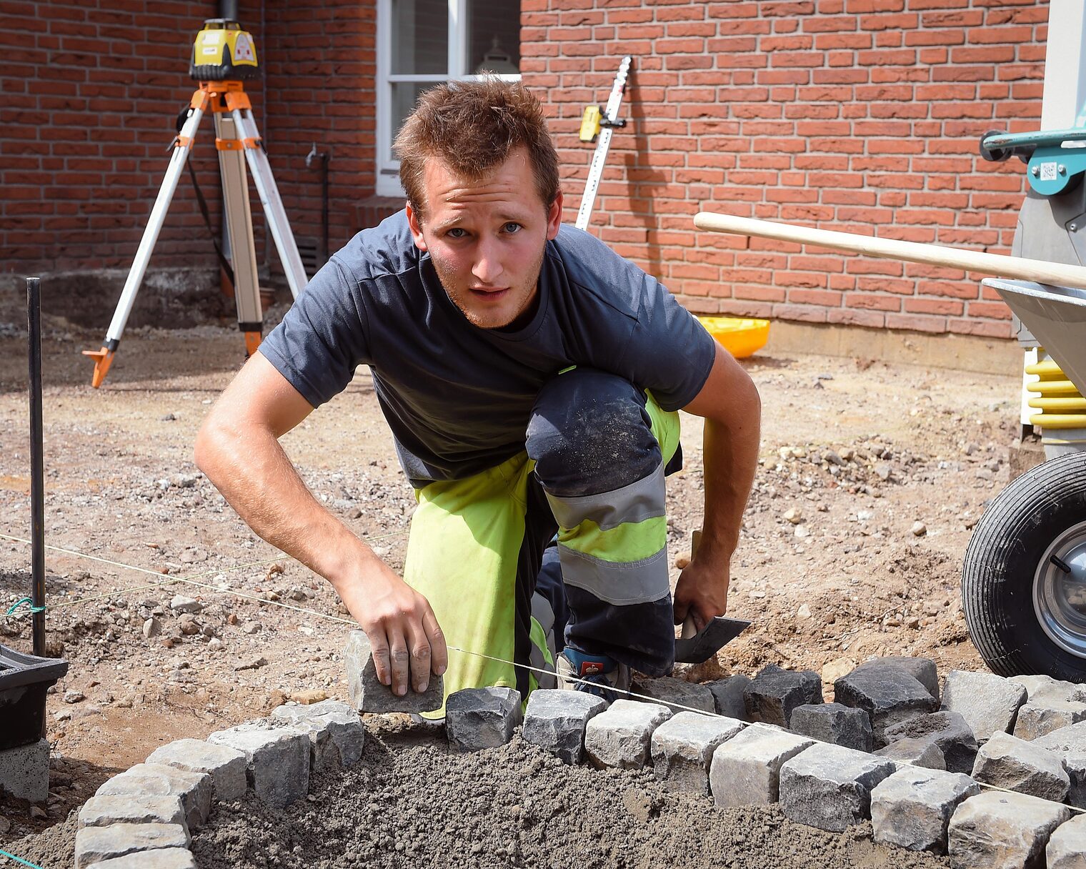
[[[393,75],[392,64],[392,0],[377,0],[377,154],[376,193],[381,197],[403,197],[400,185],[400,161],[388,158],[396,130],[389,116],[392,104],[392,85],[396,81],[433,83],[473,81],[476,75],[458,75],[453,71],[464,68],[468,53],[467,28],[468,0],[449,0],[449,66],[445,75]],[[519,75],[500,75],[503,81],[519,81]]]

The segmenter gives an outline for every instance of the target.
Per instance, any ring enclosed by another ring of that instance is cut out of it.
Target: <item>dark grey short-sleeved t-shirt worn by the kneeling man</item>
[[[659,282],[588,232],[548,241],[531,322],[471,325],[405,212],[355,236],[310,281],[260,352],[314,407],[366,364],[408,478],[460,479],[523,450],[540,388],[571,365],[611,371],[665,410],[705,385],[709,333]]]

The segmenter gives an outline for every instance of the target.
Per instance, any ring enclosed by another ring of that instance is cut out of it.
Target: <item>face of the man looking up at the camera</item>
[[[407,219],[453,304],[482,329],[508,326],[526,314],[546,241],[558,235],[561,222],[561,193],[550,206],[543,202],[528,150],[514,150],[478,179],[428,161],[424,190],[425,217],[408,205]]]

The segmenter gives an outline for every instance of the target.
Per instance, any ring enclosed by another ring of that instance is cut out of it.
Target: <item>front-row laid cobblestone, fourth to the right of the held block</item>
[[[734,718],[677,713],[653,732],[656,778],[673,791],[707,796],[712,753],[742,729],[743,722]]]

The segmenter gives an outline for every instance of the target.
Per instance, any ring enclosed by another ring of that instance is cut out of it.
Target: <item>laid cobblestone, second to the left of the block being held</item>
[[[262,730],[239,725],[217,730],[207,742],[245,755],[245,778],[257,799],[282,808],[310,790],[310,736],[292,727]]]

